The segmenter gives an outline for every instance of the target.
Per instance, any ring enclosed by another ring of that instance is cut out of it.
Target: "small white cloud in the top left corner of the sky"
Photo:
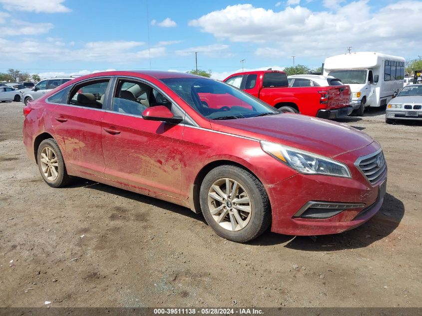
[[[6,10],[33,11],[36,13],[69,12],[68,7],[62,4],[64,0],[0,0]]]

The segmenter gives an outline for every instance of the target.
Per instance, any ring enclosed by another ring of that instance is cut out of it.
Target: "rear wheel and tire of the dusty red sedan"
[[[49,153],[52,154],[50,155]],[[61,188],[69,183],[70,178],[67,175],[63,155],[53,138],[44,139],[39,144],[36,157],[39,172],[46,184],[53,188]],[[48,159],[45,159],[45,157]],[[55,172],[53,172],[52,169],[54,169]]]

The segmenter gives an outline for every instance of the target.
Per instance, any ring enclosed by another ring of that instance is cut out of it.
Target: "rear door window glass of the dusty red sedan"
[[[76,85],[70,92],[68,103],[96,109],[102,108],[109,81],[110,79],[107,78]]]

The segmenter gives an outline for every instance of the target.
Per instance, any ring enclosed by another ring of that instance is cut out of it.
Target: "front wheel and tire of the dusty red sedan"
[[[234,197],[227,194],[227,181],[229,193],[236,187]],[[216,187],[220,188],[220,194]],[[223,200],[224,194],[226,199]],[[261,235],[270,226],[271,207],[265,188],[245,169],[232,165],[212,169],[202,181],[199,195],[201,210],[208,225],[227,240],[245,243]],[[211,211],[214,211],[214,215]]]

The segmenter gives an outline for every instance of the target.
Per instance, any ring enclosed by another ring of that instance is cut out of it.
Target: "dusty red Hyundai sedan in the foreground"
[[[367,134],[199,76],[90,74],[24,115],[27,154],[49,186],[78,176],[170,201],[236,242],[270,225],[288,235],[344,232],[377,213],[386,192],[384,155]]]

